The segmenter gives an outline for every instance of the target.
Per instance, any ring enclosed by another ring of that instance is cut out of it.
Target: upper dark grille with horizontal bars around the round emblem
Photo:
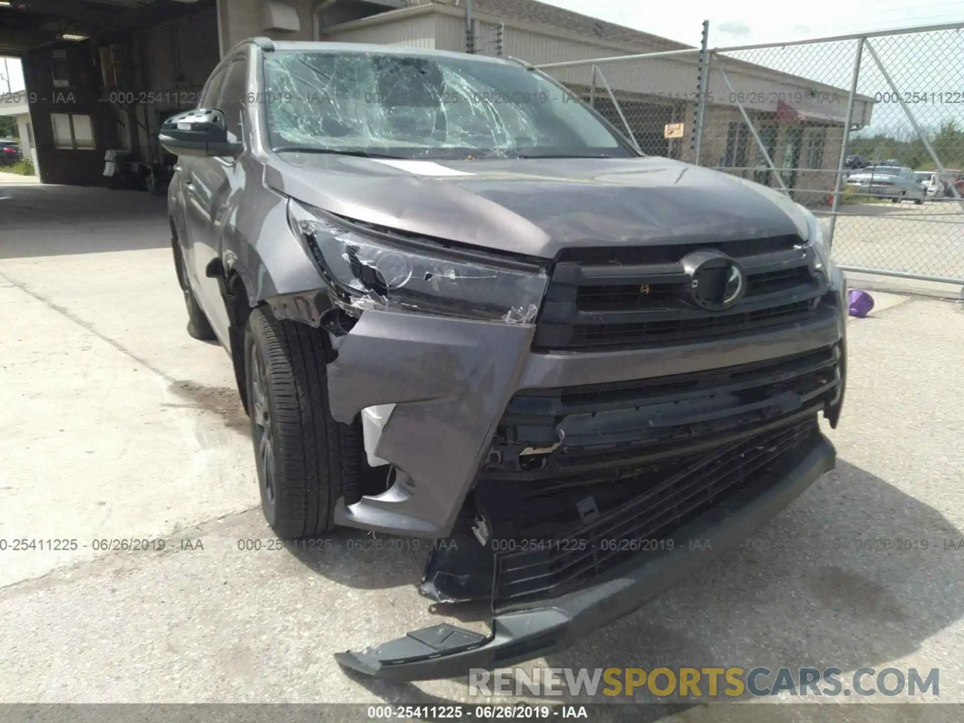
[[[689,299],[685,254],[729,254],[747,276],[734,308],[711,311]],[[827,313],[827,278],[796,237],[696,246],[571,249],[560,254],[533,339],[536,351],[592,351],[691,343],[790,326]]]

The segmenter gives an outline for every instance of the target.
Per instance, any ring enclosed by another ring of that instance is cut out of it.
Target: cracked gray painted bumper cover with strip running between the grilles
[[[329,403],[350,423],[394,404],[375,455],[398,472],[388,492],[335,506],[335,522],[388,534],[447,536],[495,426],[520,388],[680,374],[789,356],[837,343],[843,313],[805,326],[620,352],[530,352],[534,327],[368,310],[328,365]]]

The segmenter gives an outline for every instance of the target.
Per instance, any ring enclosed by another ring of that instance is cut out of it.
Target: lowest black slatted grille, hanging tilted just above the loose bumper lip
[[[564,536],[529,541],[524,549],[517,544],[495,555],[494,608],[561,595],[630,557],[672,549],[674,530],[748,483],[767,474],[776,479],[772,470],[782,458],[817,433],[816,417],[810,417],[689,458],[669,472],[647,475],[646,481],[639,479],[638,469],[625,470],[636,487],[629,501]],[[602,509],[593,498],[597,489],[578,492],[584,509]]]

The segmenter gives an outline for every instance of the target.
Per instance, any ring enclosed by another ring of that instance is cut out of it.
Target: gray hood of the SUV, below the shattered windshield
[[[281,153],[269,186],[358,221],[551,258],[561,249],[807,235],[760,184],[661,157],[394,161]]]

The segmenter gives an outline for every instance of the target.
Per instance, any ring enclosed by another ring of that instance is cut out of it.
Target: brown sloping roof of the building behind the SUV
[[[439,5],[464,7],[465,0],[432,0]],[[633,30],[582,13],[574,13],[537,0],[472,0],[473,13],[496,15],[503,20],[518,20],[533,25],[546,25],[568,33],[606,42],[645,45],[653,50],[679,50],[693,47],[675,40]]]

